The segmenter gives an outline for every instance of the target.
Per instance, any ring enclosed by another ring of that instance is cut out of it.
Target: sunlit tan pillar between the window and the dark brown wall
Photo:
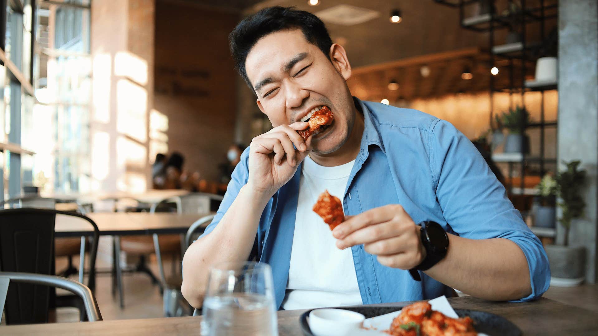
[[[92,190],[148,186],[154,0],[91,2]]]

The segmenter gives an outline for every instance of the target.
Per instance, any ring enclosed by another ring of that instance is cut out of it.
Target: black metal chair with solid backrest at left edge
[[[0,271],[54,274],[54,224],[59,214],[81,218],[93,227],[88,283],[93,290],[99,230],[90,218],[74,212],[35,208],[0,210]],[[85,244],[86,240],[81,239],[81,269],[85,260]],[[82,276],[81,271],[80,280],[83,280]],[[7,323],[48,322],[50,307],[78,307],[83,316],[83,304],[74,295],[56,297],[56,292],[47,287],[19,285],[18,292],[17,289],[8,291]]]

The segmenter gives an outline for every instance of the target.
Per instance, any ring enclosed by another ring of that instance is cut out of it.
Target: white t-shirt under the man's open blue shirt
[[[328,225],[312,210],[324,190],[343,200],[353,163],[324,167],[309,157],[303,161],[291,268],[282,301],[286,310],[362,304],[351,249],[338,249]]]

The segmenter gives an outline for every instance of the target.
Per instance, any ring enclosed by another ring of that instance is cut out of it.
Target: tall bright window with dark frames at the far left
[[[0,190],[89,190],[89,0],[0,0]],[[25,188],[24,188],[25,187]]]

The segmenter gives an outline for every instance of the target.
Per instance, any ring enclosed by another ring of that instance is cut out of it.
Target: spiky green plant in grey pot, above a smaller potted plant
[[[508,112],[502,114],[502,124],[509,130],[505,142],[505,153],[529,153],[529,138],[524,133],[522,134],[529,122],[527,109],[519,105],[509,108]]]

